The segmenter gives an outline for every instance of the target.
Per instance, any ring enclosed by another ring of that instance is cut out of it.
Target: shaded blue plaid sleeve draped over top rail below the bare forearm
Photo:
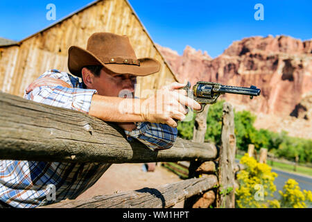
[[[128,140],[138,139],[153,151],[171,148],[177,139],[177,128],[162,123],[137,123],[137,129],[125,130]]]

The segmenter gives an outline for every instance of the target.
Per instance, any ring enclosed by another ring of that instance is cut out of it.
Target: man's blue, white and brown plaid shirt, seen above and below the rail
[[[84,89],[78,78],[52,69],[42,77],[64,80],[73,88],[62,86],[36,87],[24,98],[80,112],[89,112],[95,89]],[[148,148],[171,148],[177,129],[165,124],[137,123],[137,129],[128,132],[128,140],[138,139]],[[75,199],[103,175],[108,163],[66,163],[42,161],[0,160],[0,200],[12,207],[38,207]],[[55,191],[55,192],[54,192]],[[52,193],[53,192],[53,193]],[[53,200],[55,194],[55,200]]]

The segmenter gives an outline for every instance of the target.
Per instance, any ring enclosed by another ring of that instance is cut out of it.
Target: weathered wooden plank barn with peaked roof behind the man
[[[138,78],[141,92],[177,80],[130,3],[98,0],[20,42],[0,39],[0,90],[23,96],[26,87],[47,69],[69,72],[69,47],[85,49],[87,39],[96,32],[128,35],[137,58],[150,57],[161,62],[157,74]]]

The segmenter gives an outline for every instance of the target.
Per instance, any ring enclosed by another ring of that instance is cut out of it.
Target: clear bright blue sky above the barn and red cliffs
[[[46,5],[56,6],[56,21],[92,0],[1,0],[0,37],[22,40],[55,21],[46,19]],[[311,0],[184,1],[129,0],[157,44],[179,54],[185,46],[207,51],[215,58],[243,37],[291,35],[312,38]],[[256,3],[264,8],[264,20],[254,19]]]

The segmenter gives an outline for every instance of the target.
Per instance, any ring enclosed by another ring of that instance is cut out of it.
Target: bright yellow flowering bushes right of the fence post
[[[277,173],[271,172],[272,168],[268,164],[259,163],[253,157],[249,157],[248,153],[241,157],[240,163],[244,164],[246,169],[237,174],[240,186],[235,191],[236,207],[297,208],[312,203],[311,191],[301,191],[293,179],[286,181],[283,191],[279,191],[280,200],[268,200],[266,197],[273,196],[276,191],[274,180]]]

